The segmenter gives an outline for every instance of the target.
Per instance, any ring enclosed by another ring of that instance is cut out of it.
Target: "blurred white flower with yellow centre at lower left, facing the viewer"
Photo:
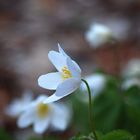
[[[70,112],[63,104],[44,104],[47,96],[40,96],[28,105],[20,115],[18,126],[28,127],[33,124],[36,133],[42,134],[49,126],[57,130],[65,130],[70,120]]]

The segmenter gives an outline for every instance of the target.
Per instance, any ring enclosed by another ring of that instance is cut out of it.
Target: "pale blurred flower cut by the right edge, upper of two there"
[[[140,59],[132,59],[122,72],[125,78],[140,77]]]

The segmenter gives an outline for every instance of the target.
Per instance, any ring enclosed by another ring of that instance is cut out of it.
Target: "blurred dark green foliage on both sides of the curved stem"
[[[124,129],[136,135],[140,140],[140,88],[133,86],[128,90],[121,88],[121,80],[107,76],[107,84],[102,93],[93,98],[93,120],[95,129],[108,133],[115,129]],[[75,97],[76,95],[76,97]],[[87,134],[91,132],[88,120],[88,103],[80,100],[80,91],[71,95],[75,131]],[[79,96],[79,99],[77,97]]]

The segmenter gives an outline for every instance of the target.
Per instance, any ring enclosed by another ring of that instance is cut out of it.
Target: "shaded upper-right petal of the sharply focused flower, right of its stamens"
[[[72,61],[70,57],[67,58],[67,66],[68,66],[68,69],[71,71],[73,77],[81,78],[81,72],[79,71],[79,68]]]

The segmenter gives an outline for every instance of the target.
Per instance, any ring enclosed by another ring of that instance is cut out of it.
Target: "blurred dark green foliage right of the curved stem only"
[[[121,89],[121,83],[109,80],[106,89],[94,100],[96,128],[103,132],[125,129],[140,139],[140,88]]]

